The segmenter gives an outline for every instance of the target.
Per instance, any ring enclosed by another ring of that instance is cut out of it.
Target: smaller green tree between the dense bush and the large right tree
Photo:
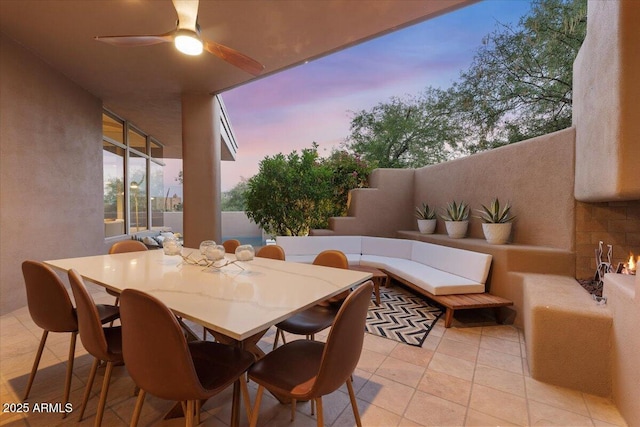
[[[427,88],[417,97],[391,98],[351,120],[345,148],[382,168],[421,167],[449,158],[457,130],[446,93]]]

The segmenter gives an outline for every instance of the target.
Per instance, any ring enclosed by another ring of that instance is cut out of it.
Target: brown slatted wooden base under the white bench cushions
[[[453,312],[456,310],[468,310],[471,308],[498,308],[513,305],[513,301],[509,301],[508,299],[499,297],[497,295],[491,295],[487,292],[482,294],[433,295],[432,293],[417,287],[413,283],[408,282],[407,280],[404,280],[403,278],[398,277],[395,274],[391,274],[389,272],[386,273],[390,277],[401,283],[404,283],[421,295],[424,295],[430,300],[433,300],[438,304],[444,306],[447,309],[444,315],[445,328],[451,326],[451,322],[453,321]],[[496,317],[498,322],[500,322],[499,312],[497,310]]]

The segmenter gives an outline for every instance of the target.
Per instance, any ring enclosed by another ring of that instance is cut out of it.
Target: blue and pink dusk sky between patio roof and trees
[[[451,86],[485,35],[529,9],[529,0],[485,0],[224,92],[239,148],[236,161],[222,162],[222,191],[255,175],[265,156],[314,141],[328,155],[349,135],[354,112]]]

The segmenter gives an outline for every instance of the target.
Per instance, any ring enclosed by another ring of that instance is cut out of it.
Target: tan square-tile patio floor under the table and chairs
[[[102,290],[92,289],[98,302],[112,302]],[[260,345],[268,350],[273,329]],[[21,402],[40,340],[26,307],[0,318],[0,372],[2,383],[0,425],[78,425],[78,411],[91,357],[78,339],[70,401],[73,411],[28,415],[5,412]],[[57,403],[62,399],[69,334],[49,334],[29,402]],[[320,337],[321,339],[324,338]],[[92,425],[104,370],[98,372],[85,419]],[[366,335],[354,375],[358,407],[364,426],[625,426],[607,399],[564,389],[532,379],[528,374],[524,336],[511,326],[454,327],[436,324],[422,348]],[[255,384],[249,385],[251,398]],[[114,369],[103,426],[129,424],[135,397],[125,367]],[[226,390],[203,407],[202,425],[225,426],[230,418]],[[346,388],[323,399],[325,422],[330,426],[355,425]],[[182,426],[184,419],[163,421],[173,402],[147,396],[139,425]],[[243,408],[244,410],[244,408]],[[242,425],[246,425],[243,415]],[[268,393],[260,408],[259,425],[289,426],[290,408]],[[309,404],[299,404],[295,426],[315,426]]]

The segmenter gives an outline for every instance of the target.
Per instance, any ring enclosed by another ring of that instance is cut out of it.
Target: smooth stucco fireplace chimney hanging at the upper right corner
[[[640,2],[589,1],[587,38],[573,65],[575,197],[640,199]]]

